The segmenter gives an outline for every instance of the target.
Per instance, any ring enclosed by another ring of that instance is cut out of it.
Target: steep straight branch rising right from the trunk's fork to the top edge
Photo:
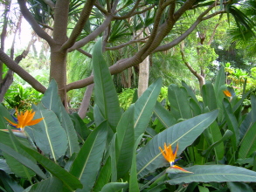
[[[70,38],[66,41],[64,45],[62,45],[61,49],[66,50],[74,45],[76,39],[80,36],[81,31],[83,30],[84,25],[86,24],[86,21],[88,20],[90,13],[93,9],[93,4],[96,0],[86,1],[86,4],[83,8],[83,10],[80,13],[79,20],[77,24],[74,26],[73,31],[70,35]]]

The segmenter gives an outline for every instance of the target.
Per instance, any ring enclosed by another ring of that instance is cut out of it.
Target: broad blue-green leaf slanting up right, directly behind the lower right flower
[[[139,177],[148,175],[156,168],[163,167],[166,164],[159,150],[159,147],[163,147],[164,142],[174,146],[178,143],[179,148],[177,155],[181,154],[186,147],[203,133],[206,127],[211,125],[217,115],[218,110],[211,113],[204,113],[177,123],[160,134],[157,134],[145,147],[142,147],[142,150],[137,154],[137,170]]]

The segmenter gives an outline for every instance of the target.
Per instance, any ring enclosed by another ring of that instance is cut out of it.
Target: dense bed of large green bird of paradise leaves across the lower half
[[[66,113],[54,80],[33,106],[35,119],[44,119],[24,127],[22,137],[0,106],[3,191],[255,189],[256,98],[251,96],[250,112],[243,111],[249,93],[239,99],[226,87],[224,68],[213,85],[203,86],[203,101],[185,83],[170,85],[170,111],[157,102],[162,87],[157,79],[121,112],[100,42],[93,51],[93,75],[95,105],[88,123]],[[164,143],[178,144],[176,154],[183,158],[176,164],[193,174],[174,174],[166,167],[159,150]]]

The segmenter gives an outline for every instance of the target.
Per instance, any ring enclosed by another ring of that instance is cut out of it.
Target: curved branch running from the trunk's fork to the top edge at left
[[[25,4],[26,1],[17,0],[17,3],[19,4],[20,10],[24,18],[27,20],[29,24],[31,24],[31,27],[38,34],[38,36],[40,38],[44,38],[45,41],[47,41],[50,46],[53,45],[55,43],[54,40],[38,25],[37,21],[31,15],[30,10],[28,10],[28,8],[26,7],[26,4]]]

